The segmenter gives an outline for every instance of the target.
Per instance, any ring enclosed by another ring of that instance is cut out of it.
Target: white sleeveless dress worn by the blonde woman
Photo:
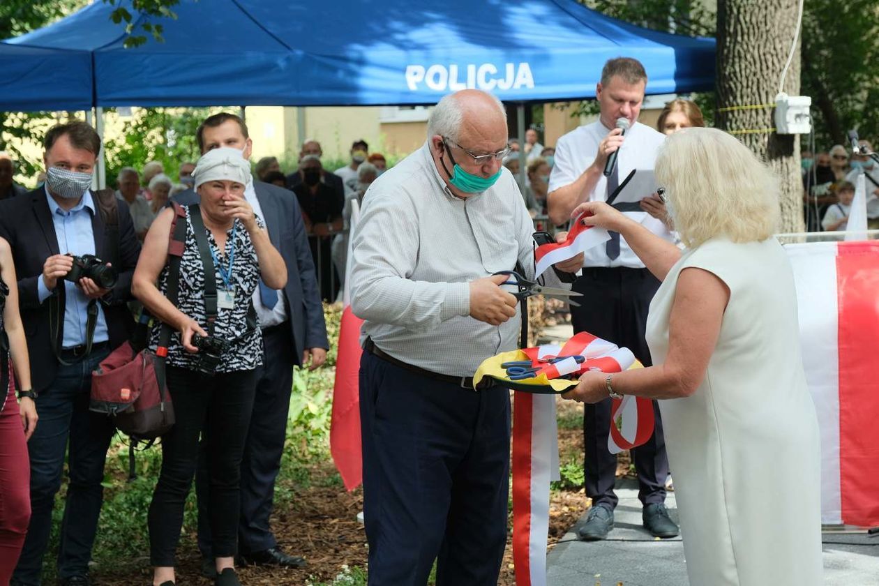
[[[701,386],[659,402],[690,584],[823,584],[817,417],[787,254],[774,238],[718,238],[686,250],[650,304],[653,364],[668,354],[669,315],[686,267],[730,288]]]

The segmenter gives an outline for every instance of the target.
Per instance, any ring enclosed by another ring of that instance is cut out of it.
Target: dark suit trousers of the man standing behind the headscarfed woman
[[[263,330],[265,358],[256,370],[256,395],[251,425],[241,460],[241,517],[238,523],[238,550],[262,552],[278,545],[269,525],[274,503],[274,485],[280,472],[280,459],[287,439],[287,415],[293,387],[293,361],[296,352],[287,322]],[[203,557],[211,551],[210,482],[207,469],[207,438],[202,438],[195,491],[199,496],[199,549]]]

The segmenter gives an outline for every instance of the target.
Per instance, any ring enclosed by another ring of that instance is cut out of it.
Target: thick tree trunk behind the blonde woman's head
[[[798,6],[797,0],[717,2],[716,126],[735,134],[780,177],[780,232],[804,229],[800,137],[768,130],[775,127],[773,107],[721,109],[774,104],[794,40]],[[788,96],[800,94],[799,42],[783,90]]]

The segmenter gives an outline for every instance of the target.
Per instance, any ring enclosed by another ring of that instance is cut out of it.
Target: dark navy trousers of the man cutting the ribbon
[[[506,542],[510,396],[360,361],[370,586],[495,586]]]

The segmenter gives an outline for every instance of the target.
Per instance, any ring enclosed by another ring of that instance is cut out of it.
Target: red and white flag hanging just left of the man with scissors
[[[352,199],[351,229],[348,232],[348,258],[345,275],[351,275],[354,228],[360,221],[360,206]],[[363,455],[360,445],[360,326],[357,315],[351,311],[351,279],[345,279],[342,301],[342,321],[338,329],[336,383],[332,392],[332,420],[330,424],[330,453],[342,476],[345,488],[353,490],[363,481]]]

